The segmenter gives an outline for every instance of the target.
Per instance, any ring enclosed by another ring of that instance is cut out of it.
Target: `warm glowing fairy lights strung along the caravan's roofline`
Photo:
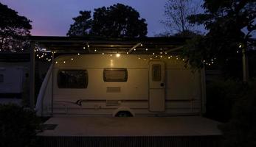
[[[136,51],[144,51],[143,54],[137,54],[138,57],[137,59],[138,60],[153,60],[153,59],[165,59],[165,60],[182,60],[183,62],[185,61],[184,58],[180,57],[179,55],[174,55],[174,54],[169,54],[167,53],[167,51],[163,51],[162,48],[159,49],[159,51],[154,51],[153,53],[148,53],[148,56],[147,58],[145,58],[145,56],[142,56],[142,55],[145,55],[147,54],[147,52],[150,50],[148,48],[145,48],[145,49],[142,49],[143,47],[143,44],[141,43],[140,45],[140,49],[136,49],[134,48],[132,51],[127,51],[126,53],[106,53],[106,52],[103,52],[103,51],[98,51],[97,49],[94,49],[93,50],[93,53],[94,54],[102,54],[103,56],[110,56],[110,57],[121,57],[121,56],[125,56],[127,54],[133,54],[134,52]],[[242,45],[240,44],[239,46],[239,49],[242,48]],[[89,51],[89,48],[90,48],[90,45],[89,43],[86,43],[86,46],[83,46],[83,50],[86,50],[86,51]],[[239,53],[239,51],[237,50],[236,51],[237,53]],[[47,51],[46,49],[41,49],[39,46],[35,46],[35,57],[38,58],[38,60],[46,60],[48,62],[52,62],[52,57],[53,57],[53,54],[57,53],[57,51]],[[77,53],[77,57],[79,57],[81,54],[85,54],[86,52],[78,52]],[[216,57],[210,59],[210,60],[203,60],[204,62],[204,65],[207,65],[207,66],[211,66],[211,65],[214,65],[215,62],[216,62]],[[63,62],[64,64],[66,62],[74,62],[75,61],[75,57],[72,56],[70,57],[69,59],[66,59],[66,60],[62,60],[62,61],[55,61],[55,64],[58,64],[59,62]]]

